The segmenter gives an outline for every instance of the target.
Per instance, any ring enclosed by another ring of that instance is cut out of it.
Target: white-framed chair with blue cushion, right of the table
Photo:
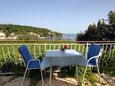
[[[87,64],[86,64],[86,68],[85,68],[85,71],[84,71],[84,75],[83,75],[83,79],[82,79],[82,84],[83,84],[83,81],[84,81],[84,78],[85,78],[87,67],[97,67],[98,74],[100,75],[98,59],[102,55],[101,51],[102,51],[101,50],[101,46],[97,45],[97,44],[92,44],[88,48]]]

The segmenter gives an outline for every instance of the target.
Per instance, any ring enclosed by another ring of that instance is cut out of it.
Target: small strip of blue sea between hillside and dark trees
[[[62,39],[68,41],[76,41],[77,34],[75,33],[63,33]]]

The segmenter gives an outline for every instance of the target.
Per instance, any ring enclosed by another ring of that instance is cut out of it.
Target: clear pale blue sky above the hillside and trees
[[[115,11],[115,0],[0,0],[0,24],[78,33],[107,19],[111,10]]]

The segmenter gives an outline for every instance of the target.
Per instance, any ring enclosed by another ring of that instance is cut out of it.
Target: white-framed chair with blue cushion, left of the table
[[[42,86],[44,86],[43,74],[42,74],[42,71],[41,71],[41,68],[40,68],[40,63],[41,63],[40,60],[31,58],[30,52],[29,52],[26,45],[21,45],[19,47],[19,52],[20,52],[21,56],[23,57],[25,65],[26,65],[26,70],[25,70],[24,77],[23,77],[21,85],[23,85],[23,82],[25,80],[25,76],[26,76],[26,73],[27,73],[28,70],[40,69],[41,79],[42,79]]]

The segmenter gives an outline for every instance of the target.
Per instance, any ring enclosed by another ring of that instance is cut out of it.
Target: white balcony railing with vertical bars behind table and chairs
[[[101,65],[108,65],[108,61],[115,57],[115,43],[100,43],[103,49],[103,55],[100,57]],[[18,48],[22,44],[0,44],[0,66],[2,66],[7,61],[14,62],[15,64],[22,64],[23,60],[19,54]],[[63,48],[65,43],[59,44],[37,44],[29,43],[26,44],[30,50],[31,55],[34,58],[43,57],[46,50],[60,50]],[[82,54],[86,54],[85,43],[66,43],[69,49],[74,49]]]

